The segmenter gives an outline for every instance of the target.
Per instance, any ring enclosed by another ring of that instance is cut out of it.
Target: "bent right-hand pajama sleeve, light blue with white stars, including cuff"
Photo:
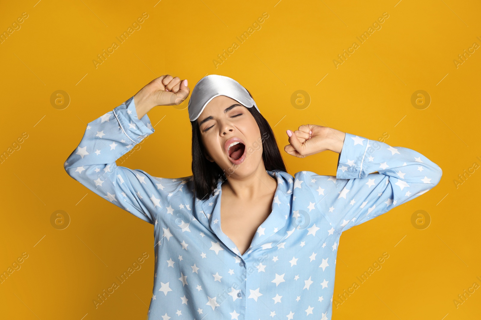
[[[341,233],[429,191],[443,171],[414,150],[346,133],[336,177],[308,174],[316,208]]]

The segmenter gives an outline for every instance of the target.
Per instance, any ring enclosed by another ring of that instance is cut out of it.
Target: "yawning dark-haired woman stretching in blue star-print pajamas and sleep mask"
[[[187,85],[170,75],[153,80],[90,122],[64,164],[154,225],[148,319],[330,319],[341,233],[430,190],[441,168],[405,147],[308,124],[287,131],[284,151],[339,153],[336,176],[291,176],[252,95],[220,75],[201,79],[189,101],[191,176],[117,166],[155,131],[147,112],[184,101]]]

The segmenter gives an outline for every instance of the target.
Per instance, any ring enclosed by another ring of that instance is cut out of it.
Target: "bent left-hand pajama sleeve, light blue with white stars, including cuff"
[[[139,150],[139,142],[154,131],[147,114],[142,119],[137,117],[134,97],[131,97],[89,122],[82,140],[65,161],[64,169],[106,201],[154,224],[169,197],[187,180],[156,178],[140,169],[117,166],[115,162]]]

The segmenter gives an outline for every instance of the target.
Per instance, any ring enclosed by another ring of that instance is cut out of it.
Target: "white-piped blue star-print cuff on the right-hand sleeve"
[[[362,165],[369,139],[347,133],[339,154],[336,178],[361,178]]]

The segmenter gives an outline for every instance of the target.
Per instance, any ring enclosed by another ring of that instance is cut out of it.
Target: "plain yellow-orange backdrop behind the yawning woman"
[[[373,140],[387,132],[384,142],[414,149],[443,169],[428,193],[343,234],[334,298],[383,252],[389,258],[333,307],[333,319],[479,319],[481,289],[458,308],[453,302],[474,282],[481,285],[480,169],[454,183],[481,165],[480,48],[457,68],[453,62],[474,42],[481,45],[479,1],[156,2],[2,1],[1,32],[22,12],[28,18],[0,44],[1,153],[23,132],[28,138],[0,165],[0,271],[23,252],[28,258],[0,284],[0,318],[146,318],[153,225],[87,190],[63,162],[88,122],[152,79],[187,78],[192,89],[206,74],[222,74],[252,93],[292,175],[336,172],[333,152],[299,159],[283,151],[285,131],[308,123]],[[141,29],[95,68],[92,60],[142,12],[149,17]],[[263,12],[261,29],[240,44],[236,36]],[[383,12],[389,18],[360,44],[356,36]],[[354,41],[359,47],[336,68],[333,60]],[[213,60],[233,42],[239,47],[216,68]],[[70,96],[63,110],[50,103],[56,90]],[[291,105],[297,90],[310,96],[307,108]],[[424,110],[411,104],[417,90],[432,99]],[[190,175],[187,100],[156,107],[149,117],[156,133],[122,165],[157,177]],[[63,230],[51,225],[56,210],[71,218]],[[411,224],[417,210],[431,217],[424,230]],[[143,252],[149,258],[142,268],[95,309],[92,300]]]

